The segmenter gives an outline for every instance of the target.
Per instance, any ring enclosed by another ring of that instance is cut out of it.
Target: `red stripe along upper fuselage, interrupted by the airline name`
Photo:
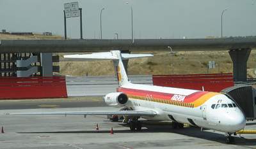
[[[154,92],[154,91],[138,90],[138,89],[127,89],[124,87],[119,87],[118,89],[116,89],[116,91],[124,92],[125,94],[131,94],[134,96],[143,96],[143,97],[152,96],[154,98],[165,99],[165,100],[171,100],[172,97],[175,95],[175,94],[164,93],[164,92]],[[196,99],[198,99],[201,96],[204,96],[207,93],[209,93],[209,92],[204,92],[204,91],[194,92],[193,94],[186,96],[183,103],[193,103],[194,101],[196,101]]]

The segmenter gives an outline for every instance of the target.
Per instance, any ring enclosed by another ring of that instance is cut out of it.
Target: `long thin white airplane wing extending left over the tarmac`
[[[6,115],[124,115],[154,117],[156,111],[56,111],[56,112],[31,112],[31,113],[6,113]]]

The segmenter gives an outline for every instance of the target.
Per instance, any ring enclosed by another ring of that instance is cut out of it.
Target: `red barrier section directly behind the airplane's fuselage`
[[[154,75],[154,85],[220,92],[234,86],[232,73],[194,75]]]

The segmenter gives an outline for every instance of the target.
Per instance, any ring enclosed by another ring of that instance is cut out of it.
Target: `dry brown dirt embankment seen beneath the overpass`
[[[68,53],[67,53],[68,54]],[[195,73],[232,73],[232,60],[227,51],[218,52],[154,52],[154,57],[131,59],[128,64],[129,75],[170,75]],[[248,77],[255,78],[255,57],[248,60]],[[62,58],[61,58],[62,59]],[[214,69],[207,69],[209,61],[215,61]],[[173,64],[173,66],[172,66]],[[61,61],[61,75],[114,75],[113,64],[104,61]]]

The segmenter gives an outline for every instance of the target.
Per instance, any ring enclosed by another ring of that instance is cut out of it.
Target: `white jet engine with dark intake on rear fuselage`
[[[106,104],[114,107],[122,107],[128,103],[128,96],[122,92],[111,92],[103,99]]]

